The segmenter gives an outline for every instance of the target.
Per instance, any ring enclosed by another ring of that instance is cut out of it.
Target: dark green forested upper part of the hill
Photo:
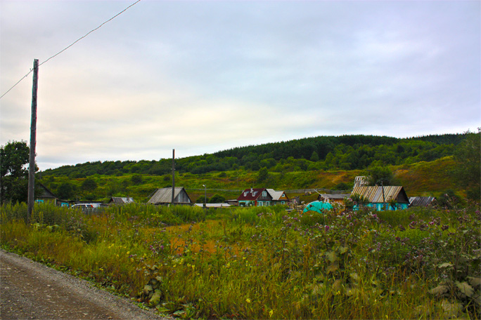
[[[376,135],[319,136],[273,142],[264,145],[236,147],[214,154],[176,159],[179,173],[207,173],[245,169],[257,171],[311,171],[339,168],[364,169],[371,165],[412,164],[451,156],[466,134],[426,135],[392,138]],[[90,175],[141,173],[164,175],[172,170],[172,159],[159,161],[96,161],[62,166],[42,175],[65,175],[85,178]]]

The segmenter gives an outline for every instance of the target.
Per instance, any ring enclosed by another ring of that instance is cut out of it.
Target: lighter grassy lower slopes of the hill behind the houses
[[[455,162],[452,157],[446,157],[431,162],[392,166],[390,169],[400,185],[404,186],[408,196],[439,196],[448,189],[463,194],[463,190],[456,185],[452,171]],[[277,190],[289,189],[335,189],[340,184],[350,185],[362,171],[294,171],[286,173],[269,172],[266,180],[257,181],[255,171],[225,171],[211,172],[199,175],[180,173],[176,175],[176,185],[185,187],[192,201],[204,197],[203,185],[207,186],[207,198],[214,194],[224,196],[225,199],[237,199],[240,191],[248,187],[269,187]],[[93,190],[82,189],[86,179],[95,181]],[[155,189],[172,186],[170,175],[139,175],[124,174],[93,175],[89,178],[68,178],[65,176],[46,176],[39,180],[52,192],[69,183],[75,187],[70,199],[108,201],[110,196],[132,196],[138,203],[146,203]],[[288,194],[296,196],[299,194]],[[302,201],[312,200],[307,196]],[[314,197],[315,199],[315,197]]]

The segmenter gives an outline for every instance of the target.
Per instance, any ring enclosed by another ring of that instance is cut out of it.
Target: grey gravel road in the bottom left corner
[[[167,319],[0,249],[0,319]]]

